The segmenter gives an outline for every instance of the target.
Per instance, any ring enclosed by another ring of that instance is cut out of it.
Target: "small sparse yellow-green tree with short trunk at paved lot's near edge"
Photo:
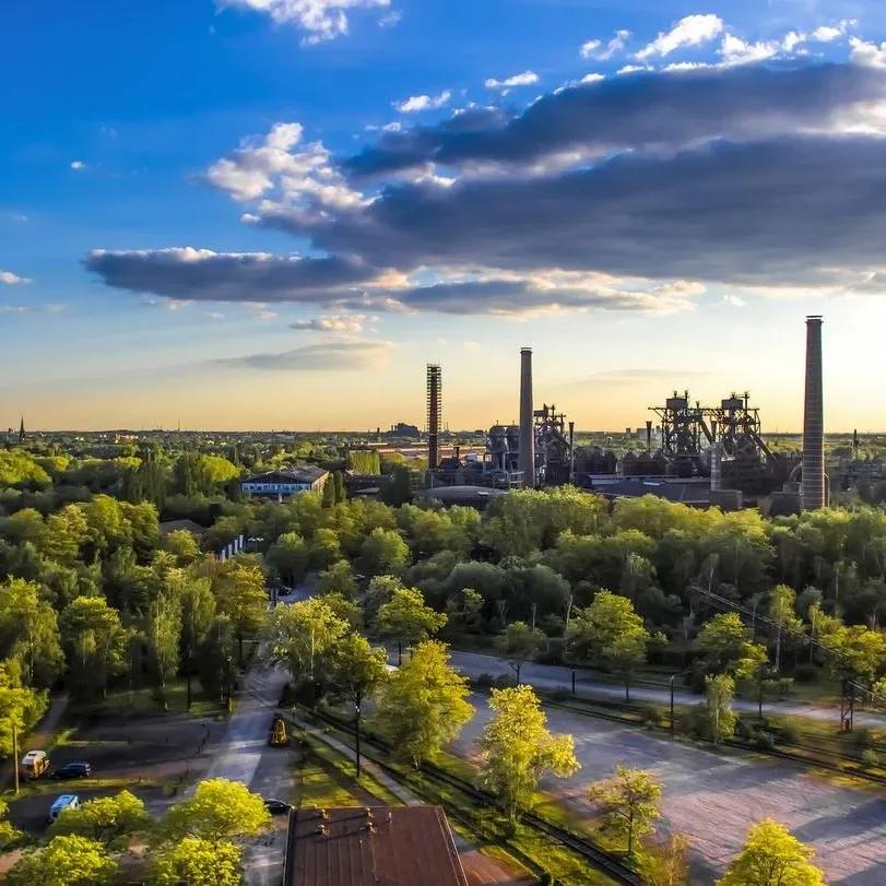
[[[591,784],[588,799],[603,810],[605,828],[627,842],[628,855],[635,839],[651,834],[661,815],[661,783],[642,769],[616,766],[613,778]]]

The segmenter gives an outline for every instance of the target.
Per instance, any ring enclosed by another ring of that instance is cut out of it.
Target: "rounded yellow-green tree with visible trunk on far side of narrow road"
[[[599,591],[590,606],[574,613],[567,637],[571,654],[621,673],[630,700],[630,676],[653,639],[630,601]]]

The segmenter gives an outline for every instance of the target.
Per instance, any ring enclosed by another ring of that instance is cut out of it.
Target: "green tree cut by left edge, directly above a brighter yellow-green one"
[[[0,659],[21,662],[24,682],[49,688],[64,666],[55,610],[33,582],[10,578],[0,583]]]

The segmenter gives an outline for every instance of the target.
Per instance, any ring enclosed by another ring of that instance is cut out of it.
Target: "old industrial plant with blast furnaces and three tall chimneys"
[[[571,483],[610,498],[658,495],[728,510],[759,505],[772,513],[827,505],[824,462],[822,318],[806,318],[803,453],[772,451],[763,437],[751,394],[731,392],[719,403],[674,391],[649,407],[637,450],[615,452],[576,444],[575,423],[553,403],[536,405],[532,350],[520,351],[519,421],[494,424],[485,450],[440,458],[442,369],[427,367],[427,474],[430,489],[507,491]],[[638,432],[639,434],[639,432]],[[642,439],[645,437],[645,439]],[[488,495],[488,493],[486,493]]]

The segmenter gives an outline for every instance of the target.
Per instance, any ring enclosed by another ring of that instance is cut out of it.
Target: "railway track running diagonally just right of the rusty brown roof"
[[[314,711],[312,716],[315,719],[324,722],[341,732],[345,732],[349,735],[354,733],[354,726],[352,723],[335,717],[332,713],[326,711]],[[385,754],[390,754],[392,749],[390,744],[383,739],[367,735],[363,732],[361,733],[361,743],[364,746],[369,745],[371,747],[376,747],[379,751],[382,751]],[[402,772],[387,761],[378,759],[378,757],[366,755],[365,752],[364,756],[367,756],[368,759],[375,763],[382,771],[387,772],[391,777],[397,778],[398,780],[402,779]],[[481,790],[465,779],[453,776],[451,772],[447,772],[439,766],[434,764],[423,764],[421,771],[422,775],[428,778],[430,781],[452,788],[463,795],[469,796],[479,805],[494,806],[496,804],[496,799],[491,793]],[[535,813],[525,813],[520,820],[534,830],[544,834],[555,842],[565,846],[567,849],[584,859],[584,861],[587,861],[591,866],[606,874],[606,876],[611,877],[613,881],[615,881],[615,883],[625,884],[625,886],[643,886],[643,881],[636,873],[636,871],[628,867],[628,865],[626,865],[617,857],[600,849],[600,847],[595,846],[587,838],[563,828],[559,825],[555,825]]]

